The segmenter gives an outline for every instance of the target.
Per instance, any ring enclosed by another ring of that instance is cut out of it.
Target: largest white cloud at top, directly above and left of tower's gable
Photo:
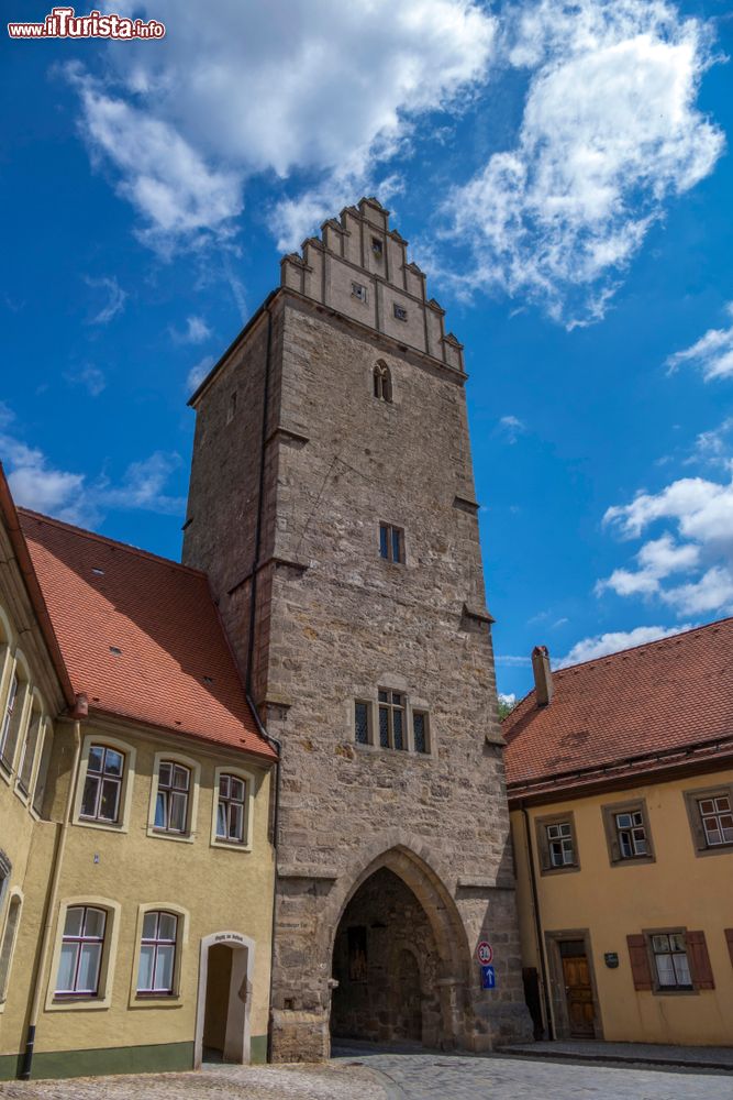
[[[163,46],[107,51],[105,85],[71,73],[87,141],[146,239],[167,246],[226,233],[255,173],[325,174],[326,191],[345,165],[366,178],[411,120],[470,92],[496,34],[474,0],[215,0],[206,19],[178,0],[124,0],[133,8],[166,23]],[[318,191],[309,211],[301,197],[278,212],[280,235],[320,212]]]

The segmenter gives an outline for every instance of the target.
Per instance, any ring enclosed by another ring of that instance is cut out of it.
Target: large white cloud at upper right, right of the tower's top
[[[457,282],[588,323],[665,204],[722,152],[695,106],[709,32],[660,0],[540,0],[504,21],[510,64],[530,70],[530,86],[517,145],[446,204],[475,260]]]

